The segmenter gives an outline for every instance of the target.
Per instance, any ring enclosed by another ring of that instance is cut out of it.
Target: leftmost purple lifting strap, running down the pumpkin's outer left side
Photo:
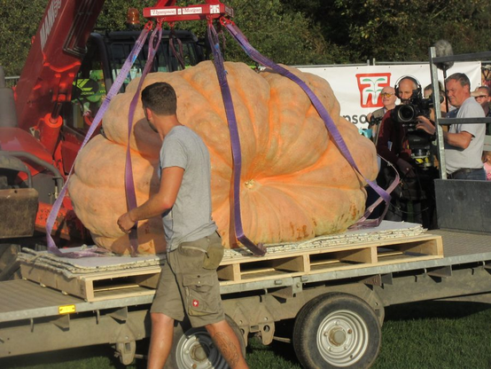
[[[142,47],[144,46],[145,39],[149,33],[150,29],[148,27],[144,27],[144,30],[142,33],[139,35],[138,39],[136,40],[135,46],[133,47],[133,50],[129,54],[128,59],[126,59],[123,67],[121,67],[121,72],[118,75],[118,78],[116,78],[116,81],[114,81],[113,86],[107,93],[104,102],[102,103],[102,106],[99,108],[96,117],[94,118],[94,121],[90,125],[90,129],[87,132],[87,135],[83,139],[82,145],[80,147],[79,153],[82,151],[83,146],[89,142],[90,137],[94,134],[94,131],[97,129],[99,123],[102,120],[103,115],[105,114],[105,111],[107,110],[109,103],[113,99],[113,97],[118,93],[118,91],[121,89],[121,85],[126,79],[126,77],[129,75],[129,69],[135,63],[136,57],[142,50]],[[78,155],[77,155],[78,157]],[[75,158],[76,161],[76,158]],[[75,163],[74,161],[74,163]],[[74,164],[75,165],[75,164]],[[69,258],[80,258],[80,257],[87,257],[87,256],[104,256],[99,253],[107,253],[108,251],[104,248],[97,247],[95,249],[92,249],[90,251],[77,251],[77,252],[68,252],[68,253],[62,253],[61,251],[58,250],[58,247],[55,244],[55,241],[51,237],[51,232],[53,230],[53,225],[55,223],[56,217],[58,216],[59,208],[61,207],[61,203],[63,202],[63,199],[65,198],[66,194],[66,189],[68,182],[70,181],[70,176],[72,175],[72,172],[74,171],[74,165],[72,165],[72,168],[70,169],[70,172],[68,173],[68,177],[66,178],[66,183],[61,189],[61,192],[58,194],[58,199],[55,201],[53,204],[53,207],[51,208],[50,215],[48,216],[48,220],[46,222],[46,240],[48,243],[48,251],[51,252],[52,254],[58,255],[58,256],[63,256],[63,257],[69,257]]]

